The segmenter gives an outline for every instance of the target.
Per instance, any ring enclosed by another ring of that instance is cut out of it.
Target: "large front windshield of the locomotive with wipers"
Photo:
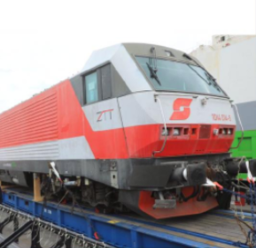
[[[167,59],[136,56],[155,90],[227,96],[203,68]]]

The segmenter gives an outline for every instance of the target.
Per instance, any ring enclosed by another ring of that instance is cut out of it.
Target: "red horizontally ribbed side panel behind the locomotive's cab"
[[[30,101],[0,116],[0,147],[58,139],[57,94],[47,93]]]

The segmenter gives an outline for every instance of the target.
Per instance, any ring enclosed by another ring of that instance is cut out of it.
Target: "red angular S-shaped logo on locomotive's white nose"
[[[192,99],[177,98],[174,101],[174,113],[170,120],[186,120],[190,116],[190,104]]]

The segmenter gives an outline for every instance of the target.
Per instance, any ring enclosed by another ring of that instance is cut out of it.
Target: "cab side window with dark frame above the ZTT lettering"
[[[110,64],[84,76],[84,104],[112,98],[112,74]]]

